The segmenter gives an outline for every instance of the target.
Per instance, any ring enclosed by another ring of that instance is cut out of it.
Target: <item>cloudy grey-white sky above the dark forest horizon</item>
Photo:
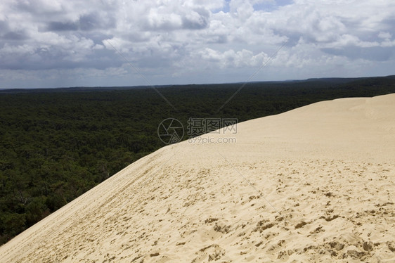
[[[0,88],[394,75],[394,14],[393,0],[1,0]]]

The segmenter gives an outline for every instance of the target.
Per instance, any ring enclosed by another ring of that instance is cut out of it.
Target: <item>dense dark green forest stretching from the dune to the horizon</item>
[[[231,117],[239,122],[333,98],[395,92],[394,77],[312,79],[153,89],[0,92],[0,244],[164,146],[168,117]],[[221,110],[219,110],[221,108]],[[186,135],[187,136],[187,135]],[[185,137],[184,139],[187,139]]]

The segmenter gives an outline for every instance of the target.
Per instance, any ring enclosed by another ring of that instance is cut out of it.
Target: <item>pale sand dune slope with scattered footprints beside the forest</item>
[[[395,262],[395,94],[226,136],[237,143],[138,160],[1,246],[0,262]]]

